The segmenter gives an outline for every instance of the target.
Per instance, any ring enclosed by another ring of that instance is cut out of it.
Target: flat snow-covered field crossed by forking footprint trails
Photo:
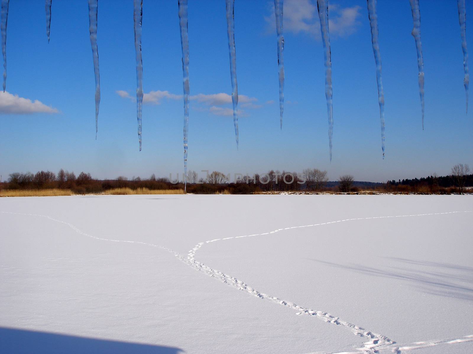
[[[472,195],[0,199],[0,353],[473,352]]]

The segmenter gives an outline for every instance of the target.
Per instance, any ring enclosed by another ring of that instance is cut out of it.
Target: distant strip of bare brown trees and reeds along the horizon
[[[461,169],[460,169],[461,167]],[[455,169],[457,168],[457,169]],[[187,176],[187,193],[195,194],[252,194],[279,192],[313,192],[313,193],[419,193],[419,194],[451,194],[472,191],[473,174],[469,174],[467,165],[456,165],[452,175],[428,176],[422,178],[391,180],[386,183],[356,181],[351,175],[340,176],[337,181],[329,181],[327,171],[305,169],[302,173],[271,170],[265,174],[253,176],[225,175],[219,171],[207,173],[205,178],[198,178],[195,171]],[[9,175],[7,182],[0,183],[1,189],[70,189],[76,194],[99,194],[114,188],[148,188],[150,190],[184,189],[182,181],[167,177],[149,178],[119,176],[114,179],[99,180],[90,173],[74,172],[61,169],[57,174],[51,171],[15,172]]]

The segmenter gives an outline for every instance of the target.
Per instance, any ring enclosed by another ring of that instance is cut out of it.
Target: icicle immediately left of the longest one
[[[141,151],[141,109],[143,106],[143,60],[141,59],[141,22],[143,19],[143,0],[133,0],[133,24],[136,54],[136,118],[138,120],[138,141]]]

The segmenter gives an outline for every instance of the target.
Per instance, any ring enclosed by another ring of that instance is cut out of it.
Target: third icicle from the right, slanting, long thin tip
[[[381,148],[383,149],[383,159],[385,156],[385,121],[384,121],[384,91],[381,75],[381,52],[378,43],[378,17],[376,14],[377,0],[367,0],[369,25],[371,26],[371,42],[376,61],[376,81],[378,84],[379,118],[381,120]]]

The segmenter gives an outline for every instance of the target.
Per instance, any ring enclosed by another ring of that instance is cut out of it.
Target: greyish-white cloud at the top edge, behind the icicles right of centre
[[[275,31],[274,8],[269,3],[269,15],[265,17],[268,31]],[[360,25],[360,10],[358,5],[342,7],[338,4],[329,5],[329,29],[334,37],[347,37],[353,34]],[[286,0],[284,1],[284,31],[293,34],[305,33],[320,39],[320,22],[315,0]]]

